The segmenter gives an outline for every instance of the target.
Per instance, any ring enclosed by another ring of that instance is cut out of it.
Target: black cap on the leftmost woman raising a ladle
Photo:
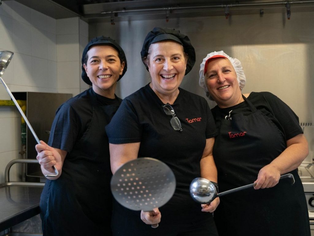
[[[124,68],[123,68],[123,72],[119,76],[119,79],[118,79],[118,81],[119,81],[122,78],[122,76],[125,74],[125,72],[127,71],[127,58],[125,57],[124,51],[120,47],[120,45],[116,41],[111,39],[110,37],[105,37],[105,36],[98,36],[98,37],[93,38],[91,41],[89,41],[89,43],[84,48],[83,55],[82,55],[82,79],[84,80],[84,82],[86,84],[92,85],[92,83],[90,82],[90,80],[86,74],[86,71],[84,69],[83,64],[84,64],[85,57],[86,57],[86,54],[87,54],[89,48],[93,45],[96,45],[96,44],[108,44],[109,46],[115,48],[118,51],[119,59],[120,59],[121,63],[122,62],[125,63]]]

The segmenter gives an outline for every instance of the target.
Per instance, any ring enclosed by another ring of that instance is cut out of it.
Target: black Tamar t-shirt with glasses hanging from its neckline
[[[182,214],[181,219],[195,219],[194,212],[201,211],[190,196],[189,185],[200,177],[206,139],[216,136],[217,131],[207,101],[181,88],[179,91],[171,106],[181,121],[181,132],[171,127],[171,116],[162,108],[165,104],[149,85],[122,101],[106,132],[109,143],[141,142],[138,157],[159,159],[172,169],[176,192],[165,205],[169,211],[163,210],[164,218],[166,214]]]

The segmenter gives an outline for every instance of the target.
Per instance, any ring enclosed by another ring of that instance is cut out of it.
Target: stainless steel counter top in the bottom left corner
[[[43,185],[0,185],[0,232],[39,214]]]

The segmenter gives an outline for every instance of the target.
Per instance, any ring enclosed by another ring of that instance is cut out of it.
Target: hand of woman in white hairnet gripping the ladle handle
[[[264,166],[257,175],[257,180],[254,182],[256,183],[254,189],[271,188],[278,184],[279,179],[280,171],[277,168],[271,165]]]

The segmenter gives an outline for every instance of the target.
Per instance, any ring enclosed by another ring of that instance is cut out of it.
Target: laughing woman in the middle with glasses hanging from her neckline
[[[216,182],[217,176],[212,156],[216,128],[208,104],[179,88],[195,63],[194,48],[178,30],[156,27],[146,36],[141,56],[151,82],[126,97],[106,126],[111,169],[115,173],[138,157],[159,159],[174,172],[176,191],[168,203],[150,212],[131,211],[114,202],[113,235],[217,235],[212,214],[202,212],[189,194],[194,178]],[[171,126],[164,108],[173,109],[178,125]],[[199,119],[189,122],[194,118]],[[218,203],[216,199],[203,211],[213,212]],[[160,218],[159,227],[152,228]]]

